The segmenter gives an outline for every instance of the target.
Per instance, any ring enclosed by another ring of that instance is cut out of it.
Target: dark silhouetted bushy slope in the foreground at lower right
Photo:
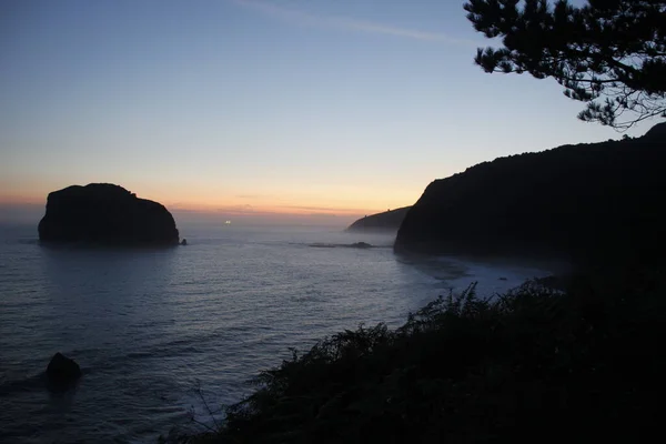
[[[601,276],[601,275],[599,275]],[[649,440],[666,363],[664,273],[474,286],[396,330],[359,326],[261,372],[196,443]]]

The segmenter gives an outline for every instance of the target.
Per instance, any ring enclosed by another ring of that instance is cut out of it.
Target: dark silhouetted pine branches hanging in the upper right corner
[[[665,0],[468,0],[465,10],[477,31],[502,39],[500,49],[478,49],[486,72],[554,78],[587,102],[584,121],[627,129],[666,117]]]

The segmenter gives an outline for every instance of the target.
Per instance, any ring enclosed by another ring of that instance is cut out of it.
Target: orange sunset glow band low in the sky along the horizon
[[[4,181],[0,181],[4,182]],[[69,182],[69,181],[68,181]],[[89,178],[72,179],[69,183],[60,180],[22,178],[20,181],[2,183],[0,204],[46,205],[50,192],[71,184],[85,185]],[[253,185],[231,186],[209,181],[168,181],[164,178],[151,181],[124,180],[118,183],[141,199],[162,203],[170,211],[191,211],[209,214],[243,216],[337,216],[362,218],[413,204],[418,194],[405,186],[396,189],[369,188],[353,184],[312,184],[309,186],[279,185],[266,188]],[[422,190],[417,190],[421,192]]]

